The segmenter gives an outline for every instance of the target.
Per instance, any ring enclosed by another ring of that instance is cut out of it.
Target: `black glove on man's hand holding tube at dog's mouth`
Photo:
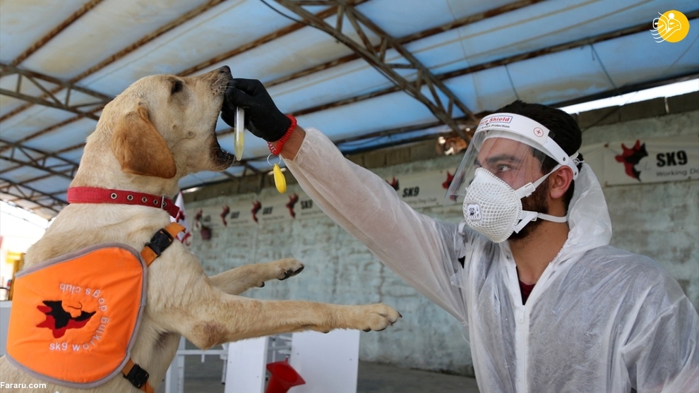
[[[235,127],[236,107],[245,109],[245,128],[268,142],[280,140],[291,126],[259,80],[236,78],[228,83],[221,119],[231,127]]]

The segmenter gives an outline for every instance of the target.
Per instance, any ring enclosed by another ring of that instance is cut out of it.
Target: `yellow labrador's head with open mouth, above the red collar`
[[[231,78],[224,66],[192,78],[153,75],[137,80],[104,107],[80,169],[109,171],[104,167],[116,159],[124,174],[179,179],[230,167],[234,156],[221,149],[215,126]]]

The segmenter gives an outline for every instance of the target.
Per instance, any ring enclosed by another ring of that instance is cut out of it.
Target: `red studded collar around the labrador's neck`
[[[165,210],[177,218],[179,207],[172,199],[165,196],[136,193],[135,191],[107,190],[95,187],[68,188],[68,203],[119,203],[122,205],[141,205]]]

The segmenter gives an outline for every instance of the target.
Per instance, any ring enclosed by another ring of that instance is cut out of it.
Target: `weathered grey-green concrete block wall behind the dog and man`
[[[583,145],[697,135],[699,93],[599,109],[578,115],[578,122],[583,129]],[[458,167],[461,155],[438,156],[434,143],[374,151],[349,159],[383,177]],[[287,175],[287,193],[298,192],[299,186],[290,178]],[[256,181],[248,179],[245,184],[246,187],[222,183],[187,193],[186,208],[193,212],[198,207],[249,200],[250,195],[244,193]],[[259,198],[263,200],[274,193],[273,188],[263,188]],[[604,193],[614,229],[612,246],[657,260],[699,309],[699,181],[609,186]],[[459,206],[429,207],[422,212],[450,222],[462,219]],[[362,332],[359,357],[363,361],[473,375],[461,325],[383,267],[362,243],[327,217],[215,229],[210,241],[202,241],[195,233],[191,250],[208,274],[253,262],[297,258],[306,265],[299,276],[251,289],[243,296],[342,304],[386,303],[399,310],[403,318],[383,332]]]

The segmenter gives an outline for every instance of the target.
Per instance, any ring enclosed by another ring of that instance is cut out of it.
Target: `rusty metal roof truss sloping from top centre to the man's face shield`
[[[318,16],[313,15],[313,13],[306,11],[302,5],[308,4],[307,1],[275,1],[296,13],[303,18],[306,23],[309,23],[309,25],[328,33],[334,37],[335,40],[342,42],[342,44],[345,44],[359,54],[362,59],[371,64],[371,66],[374,66],[374,68],[383,73],[383,75],[386,75],[386,78],[391,82],[398,85],[402,90],[405,90],[405,92],[412,95],[412,97],[419,102],[422,102],[437,119],[452,128],[462,138],[467,139],[466,133],[464,133],[460,124],[454,119],[453,110],[454,107],[458,107],[458,109],[465,114],[468,121],[475,122],[477,119],[472,112],[441,82],[441,80],[438,80],[426,66],[405,49],[396,38],[391,37],[388,33],[383,31],[383,29],[379,28],[378,25],[369,20],[369,18],[366,18],[366,16],[359,12],[357,8],[354,8],[350,2],[345,0],[313,1],[315,5],[337,6],[337,24],[333,26],[326,23],[322,18],[318,18]],[[362,42],[352,40],[352,38],[342,32],[342,21],[345,18],[352,24],[352,28],[357,32]],[[365,31],[365,29],[368,31]],[[381,40],[378,44],[378,50],[376,50],[375,45],[371,43],[371,39],[367,34],[368,32],[378,36]],[[405,63],[386,63],[386,52],[389,49],[398,52],[398,54],[405,59]],[[395,68],[412,68],[417,71],[417,79],[414,81],[407,80],[403,78],[400,73],[395,71]],[[422,87],[428,88],[431,97],[423,94]],[[442,102],[441,96],[446,97],[447,102]]]

